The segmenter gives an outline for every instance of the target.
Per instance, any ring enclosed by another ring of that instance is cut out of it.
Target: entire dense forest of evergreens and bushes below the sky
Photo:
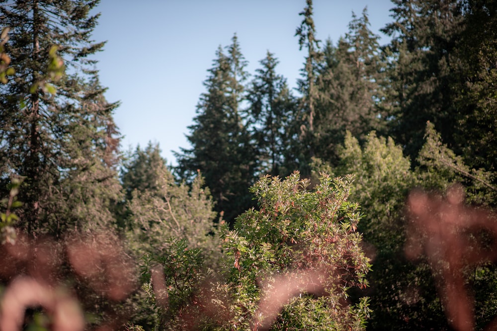
[[[219,47],[167,166],[120,150],[98,0],[0,0],[0,330],[494,330],[497,1]]]

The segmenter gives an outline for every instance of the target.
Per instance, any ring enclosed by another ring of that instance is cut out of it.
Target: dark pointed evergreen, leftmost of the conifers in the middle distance
[[[197,116],[187,136],[192,148],[176,153],[181,177],[191,180],[197,171],[216,202],[216,211],[231,221],[252,203],[248,187],[254,181],[255,152],[242,119],[247,65],[237,36],[219,47],[214,66],[204,82],[207,89],[197,105]]]

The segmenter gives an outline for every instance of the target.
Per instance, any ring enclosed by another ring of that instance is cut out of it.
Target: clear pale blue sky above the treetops
[[[348,30],[352,11],[367,6],[371,30],[392,21],[390,0],[314,0],[317,38],[336,43]],[[296,86],[305,53],[295,30],[305,0],[101,0],[95,41],[106,40],[98,60],[109,102],[121,101],[114,119],[124,135],[122,149],[159,142],[167,164],[171,151],[189,148],[185,134],[204,92],[202,82],[219,45],[236,33],[253,74],[266,51],[280,61],[276,70]]]

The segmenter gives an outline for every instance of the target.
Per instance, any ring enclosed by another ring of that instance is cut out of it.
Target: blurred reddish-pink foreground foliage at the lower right
[[[497,261],[497,218],[489,210],[464,205],[461,185],[451,186],[441,198],[414,190],[408,199],[411,227],[406,255],[427,258],[439,298],[455,330],[475,329],[474,299],[465,285],[464,268]],[[479,234],[493,240],[484,245]],[[497,319],[486,330],[494,330]]]

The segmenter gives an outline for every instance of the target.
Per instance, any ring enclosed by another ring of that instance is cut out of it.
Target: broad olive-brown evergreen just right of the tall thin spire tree
[[[361,141],[385,123],[384,64],[378,36],[369,29],[364,8],[361,17],[352,13],[349,31],[336,47],[328,40],[319,68],[316,132],[317,156],[336,164],[337,149],[348,130]]]

